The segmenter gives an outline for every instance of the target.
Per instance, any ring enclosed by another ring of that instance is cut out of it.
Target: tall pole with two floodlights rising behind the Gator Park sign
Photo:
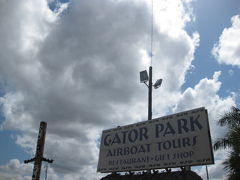
[[[140,72],[140,82],[148,87],[148,120],[152,119],[152,87],[159,88],[162,84],[162,79],[158,79],[154,85],[152,83],[152,66],[149,66],[149,77],[146,70]],[[148,82],[148,84],[146,83]]]

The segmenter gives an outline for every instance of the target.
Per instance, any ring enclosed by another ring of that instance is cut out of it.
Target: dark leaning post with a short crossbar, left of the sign
[[[29,163],[34,161],[32,180],[40,180],[42,161],[46,161],[48,163],[53,162],[52,159],[46,159],[43,157],[46,129],[47,129],[47,123],[42,121],[40,123],[40,128],[38,133],[38,141],[37,141],[35,157],[30,160],[24,161],[24,163]]]

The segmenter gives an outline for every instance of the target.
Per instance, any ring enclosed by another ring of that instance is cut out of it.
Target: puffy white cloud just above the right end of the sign
[[[235,105],[235,95],[221,98],[218,91],[221,88],[219,76],[215,72],[212,79],[204,78],[194,88],[187,88],[178,99],[174,111],[183,111],[194,107],[205,106],[209,114],[209,123],[213,140],[223,135],[224,128],[218,127],[217,120],[222,112]]]

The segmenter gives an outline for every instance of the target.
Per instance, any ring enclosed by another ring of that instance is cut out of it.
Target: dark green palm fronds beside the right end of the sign
[[[240,179],[240,109],[232,107],[218,121],[220,126],[227,127],[223,138],[214,143],[214,150],[231,148],[228,158],[224,161],[229,180]]]

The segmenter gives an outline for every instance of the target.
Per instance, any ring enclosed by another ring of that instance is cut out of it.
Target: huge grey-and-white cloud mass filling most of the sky
[[[168,20],[154,17],[153,76],[164,81],[153,114],[206,105],[214,119],[218,108],[234,104],[217,95],[220,72],[180,92],[199,44],[197,32],[184,30],[191,1],[159,3],[154,12]],[[64,8],[53,12],[47,0],[0,2],[1,129],[20,131],[16,143],[34,155],[39,122],[47,121],[53,179],[56,172],[94,180],[101,131],[147,119],[138,72],[149,65],[151,8],[144,0],[75,0],[60,16]]]

